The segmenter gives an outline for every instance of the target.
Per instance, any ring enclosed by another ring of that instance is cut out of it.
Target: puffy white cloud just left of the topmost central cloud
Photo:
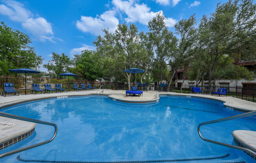
[[[115,11],[105,11],[100,16],[95,18],[91,16],[81,16],[80,20],[77,20],[76,26],[82,32],[89,32],[91,34],[102,34],[102,29],[109,28],[110,32],[114,32],[119,24],[118,19],[115,17]]]

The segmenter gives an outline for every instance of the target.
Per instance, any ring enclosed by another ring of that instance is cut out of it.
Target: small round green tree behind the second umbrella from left
[[[71,60],[70,58],[62,53],[61,55],[58,53],[52,52],[52,59],[48,61],[47,64],[44,64],[43,67],[48,70],[48,72],[53,72],[55,74],[55,78],[58,77],[59,74],[62,74],[67,71],[71,71]],[[62,76],[59,76],[62,78]]]

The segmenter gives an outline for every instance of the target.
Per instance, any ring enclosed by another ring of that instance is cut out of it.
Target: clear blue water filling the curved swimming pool
[[[225,109],[218,101],[161,96],[158,103],[128,104],[91,96],[34,101],[1,111],[56,123],[58,132],[52,142],[0,159],[0,163],[170,159],[193,162],[194,158],[222,156],[225,157],[201,162],[255,161],[242,151],[203,141],[197,134],[199,123],[241,114]],[[215,123],[202,126],[201,133],[205,138],[234,145],[232,131],[255,131],[255,122],[255,117],[249,117]],[[0,154],[45,141],[53,132],[53,127],[37,124],[31,136],[0,150]]]

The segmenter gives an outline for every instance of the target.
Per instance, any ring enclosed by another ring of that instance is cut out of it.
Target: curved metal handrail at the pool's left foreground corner
[[[44,141],[44,142],[41,142],[41,143],[37,143],[35,145],[30,145],[28,147],[24,147],[24,148],[21,148],[21,149],[16,149],[16,150],[12,150],[10,152],[6,152],[6,153],[0,155],[0,159],[4,158],[6,156],[10,156],[12,154],[16,154],[18,152],[22,152],[24,150],[32,149],[32,148],[38,147],[40,145],[47,144],[47,143],[53,141],[53,139],[55,138],[55,136],[57,134],[57,125],[55,123],[49,123],[49,122],[45,122],[45,121],[33,120],[33,119],[30,119],[30,118],[25,118],[25,117],[21,117],[21,116],[15,116],[13,114],[7,114],[7,113],[4,113],[4,112],[0,112],[0,116],[7,117],[7,118],[13,118],[13,119],[16,119],[16,120],[33,122],[33,123],[40,123],[40,124],[43,124],[43,125],[50,125],[50,126],[54,126],[54,128],[55,128],[53,137],[51,139],[49,139],[47,141]]]

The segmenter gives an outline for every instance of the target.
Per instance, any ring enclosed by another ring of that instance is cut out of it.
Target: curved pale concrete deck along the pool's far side
[[[125,96],[125,91],[106,90],[104,94],[96,94],[95,91],[81,91],[81,92],[63,92],[63,93],[52,93],[52,94],[36,94],[36,95],[22,95],[22,96],[9,96],[3,97],[0,100],[0,110],[6,107],[27,103],[31,101],[54,99],[58,97],[78,97],[78,96],[108,96],[108,98],[124,103],[155,103],[159,101],[159,96],[181,96],[191,98],[201,98],[207,100],[214,100],[222,102],[224,107],[229,110],[236,110],[240,112],[249,112],[256,110],[254,102],[241,100],[234,97],[219,97],[202,94],[185,94],[185,93],[174,93],[174,92],[156,92],[148,91],[144,92],[143,96],[140,97],[128,97]],[[146,96],[146,97],[145,97]],[[7,101],[5,99],[9,98]],[[3,102],[4,101],[4,102]]]

